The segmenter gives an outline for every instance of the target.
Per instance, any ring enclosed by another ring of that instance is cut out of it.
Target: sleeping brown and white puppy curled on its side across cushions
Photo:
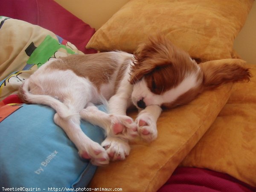
[[[188,53],[157,36],[132,55],[102,52],[71,55],[48,61],[19,90],[26,103],[49,105],[54,121],[76,145],[79,155],[95,165],[123,160],[128,140],[140,135],[150,142],[157,137],[162,107],[190,102],[202,91],[222,83],[249,81],[250,72],[241,60],[233,64],[197,64]],[[94,104],[108,100],[108,114]],[[126,116],[131,105],[139,109],[135,122]],[[101,145],[80,128],[80,118],[106,132]]]

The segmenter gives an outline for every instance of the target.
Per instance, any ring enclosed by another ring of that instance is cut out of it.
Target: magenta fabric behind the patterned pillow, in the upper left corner
[[[95,29],[54,0],[1,0],[0,16],[24,20],[44,27],[70,41],[85,54],[97,52],[95,49],[85,48]]]

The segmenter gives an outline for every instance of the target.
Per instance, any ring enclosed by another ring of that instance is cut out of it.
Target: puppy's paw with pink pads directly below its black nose
[[[157,138],[157,123],[147,113],[140,114],[135,122],[143,140],[151,142]]]

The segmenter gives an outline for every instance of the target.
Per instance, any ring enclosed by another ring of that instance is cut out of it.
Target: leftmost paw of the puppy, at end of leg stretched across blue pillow
[[[78,153],[80,157],[89,159],[90,162],[96,166],[103,166],[109,163],[108,153],[96,142],[81,147]]]

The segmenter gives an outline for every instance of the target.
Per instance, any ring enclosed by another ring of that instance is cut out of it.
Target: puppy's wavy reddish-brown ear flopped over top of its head
[[[134,52],[134,65],[131,66],[130,83],[134,84],[156,67],[171,64],[174,47],[163,35],[149,37]]]

